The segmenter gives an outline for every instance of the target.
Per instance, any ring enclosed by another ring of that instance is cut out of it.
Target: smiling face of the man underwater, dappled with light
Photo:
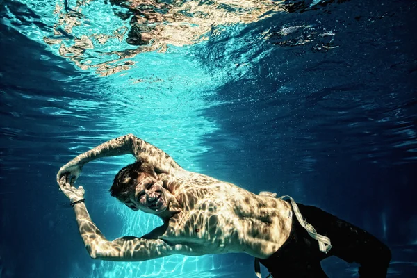
[[[134,195],[126,202],[133,211],[158,214],[167,209],[167,197],[163,182],[156,175],[141,173],[136,179]]]

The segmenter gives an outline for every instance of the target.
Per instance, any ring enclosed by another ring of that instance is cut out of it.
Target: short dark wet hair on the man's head
[[[126,203],[131,197],[131,194],[135,192],[136,179],[142,173],[154,175],[154,167],[141,160],[123,167],[115,175],[113,185],[108,191],[110,191],[113,197],[120,200],[120,202]]]

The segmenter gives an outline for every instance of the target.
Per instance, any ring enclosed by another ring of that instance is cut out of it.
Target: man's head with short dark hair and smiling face
[[[167,190],[154,167],[142,161],[127,165],[113,181],[110,193],[133,211],[159,214],[167,209]]]

